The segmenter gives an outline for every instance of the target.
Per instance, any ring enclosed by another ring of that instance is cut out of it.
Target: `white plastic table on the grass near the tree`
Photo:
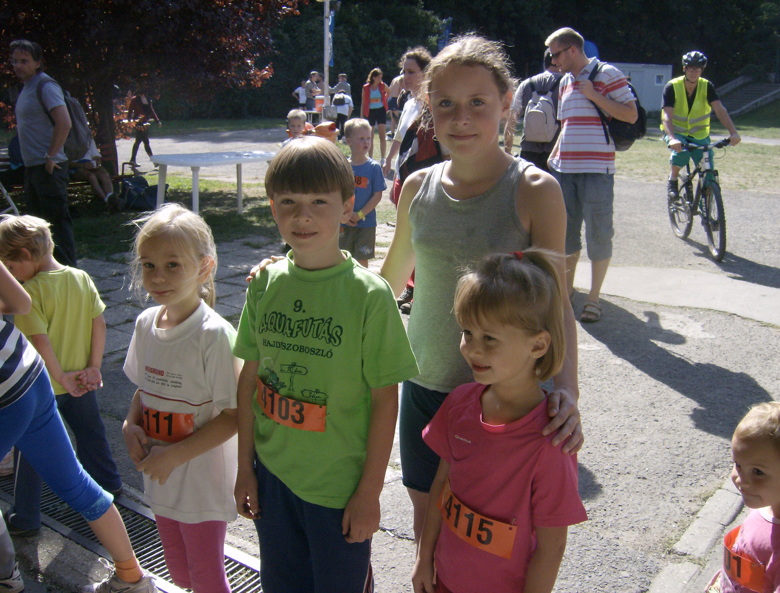
[[[239,215],[243,212],[243,192],[241,190],[241,165],[245,162],[270,161],[275,152],[199,152],[196,154],[154,154],[151,162],[160,168],[157,186],[157,207],[165,201],[165,177],[168,176],[168,166],[190,167],[193,172],[193,212],[198,211],[198,173],[200,167],[217,167],[236,164],[236,190]]]

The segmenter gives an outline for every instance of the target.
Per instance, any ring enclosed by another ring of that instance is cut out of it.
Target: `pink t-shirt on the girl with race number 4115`
[[[534,527],[565,527],[587,520],[577,492],[576,456],[561,453],[543,436],[547,398],[511,424],[482,421],[480,383],[460,385],[447,396],[423,439],[451,464],[452,492],[484,517],[515,524],[512,558],[475,548],[441,524],[436,570],[453,593],[523,591],[536,540]]]

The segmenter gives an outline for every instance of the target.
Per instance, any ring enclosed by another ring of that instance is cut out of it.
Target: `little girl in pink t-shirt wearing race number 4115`
[[[452,391],[423,431],[441,463],[416,593],[549,593],[568,526],[587,520],[576,455],[542,434],[539,383],[566,357],[558,257],[533,248],[489,255],[458,283],[460,351],[476,382]]]

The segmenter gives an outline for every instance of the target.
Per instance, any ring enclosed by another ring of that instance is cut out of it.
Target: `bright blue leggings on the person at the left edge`
[[[20,399],[0,408],[0,459],[12,446],[27,458],[49,488],[85,520],[105,515],[114,497],[76,460],[48,373],[44,370]]]

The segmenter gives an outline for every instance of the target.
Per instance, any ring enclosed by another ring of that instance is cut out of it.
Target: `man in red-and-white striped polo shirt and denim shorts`
[[[615,144],[607,142],[594,103],[605,115],[624,122],[636,122],[636,100],[626,77],[615,66],[588,59],[584,40],[576,30],[565,27],[544,42],[552,63],[565,73],[561,79],[558,119],[562,128],[548,164],[558,172],[566,202],[566,286],[574,291],[574,271],[582,250],[581,230],[585,222],[587,256],[590,259],[590,293],[581,321],[598,321],[598,303],[612,257],[612,201],[615,197]],[[598,66],[591,82],[592,70]]]

